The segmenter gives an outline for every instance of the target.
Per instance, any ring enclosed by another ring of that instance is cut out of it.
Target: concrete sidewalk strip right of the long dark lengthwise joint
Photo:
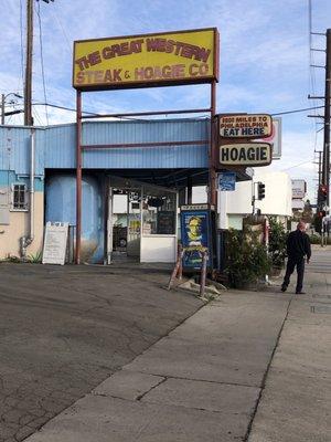
[[[308,273],[293,296],[249,442],[331,441],[331,274]]]

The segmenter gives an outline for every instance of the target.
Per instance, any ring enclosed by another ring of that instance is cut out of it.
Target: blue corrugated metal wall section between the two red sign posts
[[[209,138],[205,119],[85,123],[83,143],[129,144],[189,141]],[[145,148],[95,149],[84,152],[85,168],[202,168],[207,167],[207,146],[156,146]]]

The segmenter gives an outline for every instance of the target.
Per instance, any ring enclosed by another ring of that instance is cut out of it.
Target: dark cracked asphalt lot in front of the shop
[[[22,441],[200,308],[168,278],[0,264],[0,441]]]

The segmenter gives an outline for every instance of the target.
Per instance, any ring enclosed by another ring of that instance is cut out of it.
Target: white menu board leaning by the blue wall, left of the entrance
[[[42,261],[43,264],[64,265],[67,246],[67,222],[46,223]]]

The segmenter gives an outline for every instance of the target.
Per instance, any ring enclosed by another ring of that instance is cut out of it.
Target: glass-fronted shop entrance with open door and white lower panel
[[[172,263],[177,259],[178,192],[108,177],[107,263]]]

